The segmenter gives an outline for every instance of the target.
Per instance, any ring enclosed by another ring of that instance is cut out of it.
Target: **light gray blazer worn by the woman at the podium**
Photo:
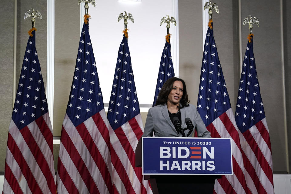
[[[185,118],[189,117],[197,130],[198,137],[211,137],[210,132],[207,131],[196,107],[189,104],[188,107],[180,109],[181,111],[181,125],[186,128]],[[149,109],[146,117],[146,125],[142,137],[152,137],[155,132],[155,137],[182,137],[178,134],[172,121],[170,120],[167,105],[157,105]],[[185,130],[187,135],[189,130]],[[189,137],[194,137],[194,130]]]

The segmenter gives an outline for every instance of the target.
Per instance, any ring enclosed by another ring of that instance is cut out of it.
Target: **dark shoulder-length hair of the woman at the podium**
[[[188,100],[186,84],[185,84],[184,80],[182,80],[180,78],[176,78],[176,77],[172,77],[172,78],[168,79],[164,83],[164,85],[163,85],[163,87],[162,87],[162,89],[161,89],[161,91],[160,91],[160,93],[158,95],[158,99],[156,101],[156,105],[166,104],[167,103],[168,96],[169,96],[170,92],[173,89],[173,84],[174,84],[175,81],[181,81],[182,84],[183,84],[183,95],[182,95],[182,98],[180,100],[179,108],[182,109],[185,106],[189,106],[189,104],[188,104],[189,100]]]

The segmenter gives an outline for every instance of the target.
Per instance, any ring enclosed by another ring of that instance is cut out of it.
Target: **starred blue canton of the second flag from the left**
[[[104,109],[89,23],[83,24],[67,115],[75,126]]]

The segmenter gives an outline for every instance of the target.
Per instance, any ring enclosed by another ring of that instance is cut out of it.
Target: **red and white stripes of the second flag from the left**
[[[77,127],[67,115],[58,159],[58,193],[113,193],[111,157],[104,109]],[[105,120],[105,122],[104,122]]]

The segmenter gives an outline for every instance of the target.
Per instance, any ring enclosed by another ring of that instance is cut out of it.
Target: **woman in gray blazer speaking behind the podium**
[[[172,77],[163,85],[156,106],[149,109],[143,137],[182,137],[181,131],[174,127],[174,117],[178,117],[182,129],[185,129],[185,118],[190,118],[198,137],[211,137],[207,131],[196,107],[188,104],[188,95],[185,82],[182,79]],[[177,119],[174,119],[177,120]],[[187,135],[189,130],[184,131]],[[194,136],[194,130],[189,137]]]

